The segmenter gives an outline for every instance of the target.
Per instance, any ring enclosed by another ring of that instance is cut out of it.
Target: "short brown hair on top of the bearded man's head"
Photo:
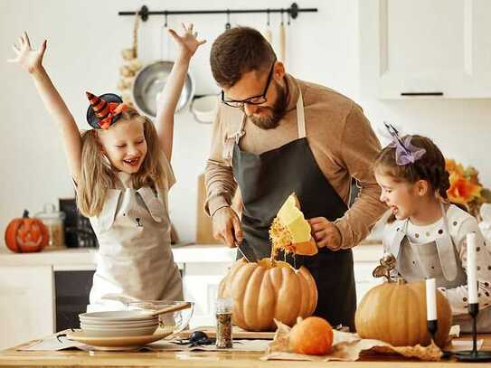
[[[210,65],[213,78],[230,88],[249,71],[267,71],[276,55],[262,34],[250,27],[234,27],[212,44]]]

